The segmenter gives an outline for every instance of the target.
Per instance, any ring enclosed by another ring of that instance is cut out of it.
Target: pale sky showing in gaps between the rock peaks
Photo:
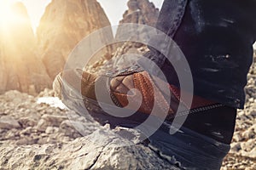
[[[6,0],[0,0],[6,1]],[[39,25],[39,21],[44,14],[45,7],[51,2],[51,0],[10,0],[10,1],[20,1],[25,4],[27,12],[32,21],[32,27],[35,31]],[[112,26],[119,24],[119,20],[122,19],[125,10],[127,9],[126,3],[128,0],[97,0],[101,3],[102,8],[108,15],[108,20]],[[153,2],[157,8],[160,8],[164,0],[149,0]]]

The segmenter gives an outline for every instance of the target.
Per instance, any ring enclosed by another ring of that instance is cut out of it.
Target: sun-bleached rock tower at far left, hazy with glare
[[[26,7],[23,3],[14,3],[12,10],[13,18],[0,25],[0,94],[19,90],[36,95],[49,88],[51,82],[38,57]]]

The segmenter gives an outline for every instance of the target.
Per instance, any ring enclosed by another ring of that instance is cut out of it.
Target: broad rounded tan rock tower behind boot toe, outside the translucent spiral
[[[73,48],[92,31],[110,26],[107,15],[96,0],[55,0],[49,3],[38,26],[38,43],[49,76],[61,72]],[[98,41],[113,40],[111,28]],[[87,47],[90,48],[90,47]],[[104,48],[100,56],[112,53]],[[90,57],[90,56],[87,56]]]

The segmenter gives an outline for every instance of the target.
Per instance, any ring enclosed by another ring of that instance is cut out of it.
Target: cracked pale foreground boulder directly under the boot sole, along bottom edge
[[[0,161],[11,169],[179,169],[142,144],[120,145],[129,143],[98,131],[67,144],[1,145]]]

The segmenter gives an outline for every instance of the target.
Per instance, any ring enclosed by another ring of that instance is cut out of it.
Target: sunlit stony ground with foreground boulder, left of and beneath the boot
[[[54,107],[58,100],[49,92],[0,96],[0,169],[178,169],[145,145],[120,138],[117,132],[125,129],[110,130]],[[84,137],[75,127],[84,128]]]

